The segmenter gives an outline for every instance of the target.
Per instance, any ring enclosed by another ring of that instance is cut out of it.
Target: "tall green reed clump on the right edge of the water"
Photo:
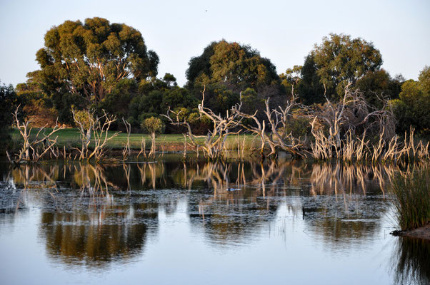
[[[396,219],[401,230],[416,229],[430,222],[430,170],[394,178],[392,191]]]

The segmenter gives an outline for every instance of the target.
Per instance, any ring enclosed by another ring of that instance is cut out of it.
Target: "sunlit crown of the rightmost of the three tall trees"
[[[355,84],[367,72],[378,71],[382,65],[381,53],[373,43],[334,33],[315,45],[306,61],[314,61],[319,82],[325,86],[329,98],[341,98],[346,84]]]

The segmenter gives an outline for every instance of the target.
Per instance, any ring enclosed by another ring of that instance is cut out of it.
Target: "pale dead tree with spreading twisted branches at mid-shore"
[[[179,120],[179,115],[181,115],[181,111],[174,112],[169,107],[167,110],[167,114],[163,115],[167,119],[169,119],[172,125],[184,126],[187,130],[186,137],[189,138],[189,144],[192,147],[196,147],[196,149],[201,149],[204,152],[204,155],[209,160],[217,160],[219,159],[225,149],[225,143],[228,135],[235,135],[241,132],[241,130],[234,131],[240,124],[242,117],[239,115],[242,102],[234,105],[230,110],[227,111],[225,116],[221,116],[221,114],[216,115],[211,109],[206,108],[204,106],[204,93],[206,90],[206,86],[202,91],[201,103],[199,104],[198,110],[201,116],[206,116],[209,118],[212,123],[212,129],[208,130],[207,135],[194,135],[191,126],[184,119],[184,121]],[[199,138],[204,138],[204,143],[200,144],[197,142]]]

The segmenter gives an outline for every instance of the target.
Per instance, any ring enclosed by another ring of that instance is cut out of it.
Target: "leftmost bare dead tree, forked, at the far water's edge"
[[[24,140],[21,149],[14,155],[13,162],[37,162],[48,153],[58,157],[58,149],[56,149],[56,141],[58,136],[53,138],[54,133],[63,129],[63,127],[59,127],[58,120],[54,128],[49,133],[46,133],[45,125],[44,127],[39,128],[36,135],[31,135],[31,131],[33,130],[31,127],[31,120],[26,119],[24,122],[19,120],[19,106],[16,108],[13,115],[16,128],[19,130],[19,134]],[[6,154],[9,160],[12,162],[9,152],[6,152]]]

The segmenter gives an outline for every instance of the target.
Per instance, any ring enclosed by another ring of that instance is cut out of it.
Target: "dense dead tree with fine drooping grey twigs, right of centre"
[[[394,114],[388,100],[379,98],[384,106],[381,109],[371,107],[359,90],[351,91],[346,86],[344,98],[339,103],[326,103],[319,109],[308,109],[311,119],[311,144],[315,158],[326,160],[331,157],[361,160],[367,155],[372,160],[384,157],[384,147],[393,148],[394,141],[386,145],[386,141],[395,136]],[[357,132],[360,129],[360,132]],[[357,137],[360,135],[361,139]],[[365,154],[370,146],[368,135],[379,135],[379,142],[374,145],[374,152]],[[386,157],[389,157],[389,155]]]

